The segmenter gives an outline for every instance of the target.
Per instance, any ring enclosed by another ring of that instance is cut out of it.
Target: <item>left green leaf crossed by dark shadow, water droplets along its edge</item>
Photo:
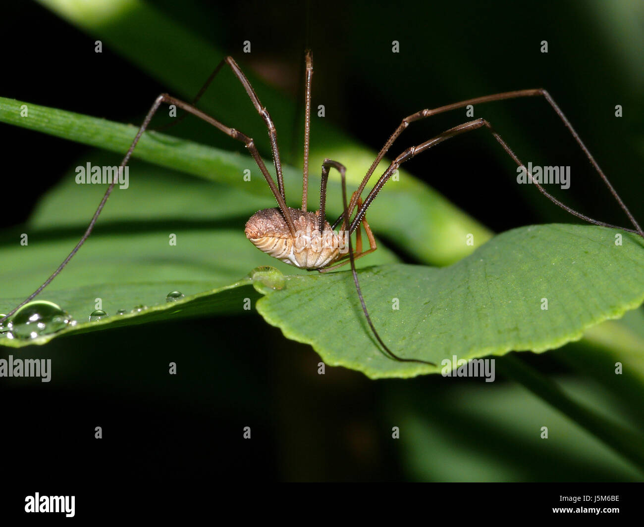
[[[116,158],[95,153],[91,159],[102,166],[112,165]],[[245,222],[260,208],[272,207],[270,197],[146,163],[133,162],[130,168],[129,188],[114,191],[92,236],[38,297],[59,304],[79,324],[37,340],[0,337],[0,344],[44,344],[71,333],[168,317],[238,313],[245,298],[254,303],[259,297],[249,279],[242,279],[252,268],[270,264],[280,273],[306,273],[262,253],[245,237]],[[87,227],[104,190],[103,185],[78,185],[70,171],[41,201],[30,225],[3,234],[0,313],[11,310],[61,263]],[[27,245],[21,245],[21,234],[28,235]],[[176,234],[176,246],[169,245],[170,234]],[[362,264],[374,261],[392,263],[397,257],[383,246],[374,260]],[[185,298],[166,303],[173,290]],[[139,304],[149,309],[90,324],[97,298],[109,315]]]

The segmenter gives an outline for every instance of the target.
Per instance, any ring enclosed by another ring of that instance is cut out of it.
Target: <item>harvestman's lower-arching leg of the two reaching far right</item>
[[[371,192],[369,192],[369,195],[366,197],[365,202],[363,203],[363,206],[360,208],[360,210],[358,210],[357,214],[355,214],[354,221],[349,228],[349,232],[353,232],[355,228],[357,228],[361,219],[365,216],[366,210],[369,208],[372,201],[374,201],[375,196],[377,196],[378,192],[380,192],[380,190],[383,188],[384,183],[387,182],[387,180],[392,176],[393,172],[397,170],[402,163],[412,159],[413,157],[417,156],[421,152],[424,152],[430,149],[431,147],[439,143],[442,143],[447,139],[450,139],[452,137],[455,137],[465,132],[476,130],[481,127],[486,127],[490,131],[490,133],[494,136],[494,138],[497,140],[497,142],[500,143],[500,145],[503,147],[506,153],[515,161],[515,163],[518,166],[523,166],[522,161],[516,156],[516,154],[510,149],[510,147],[507,146],[507,143],[492,128],[492,126],[489,124],[488,121],[486,121],[485,119],[477,119],[477,120],[466,122],[464,124],[460,124],[458,126],[450,128],[449,130],[444,131],[443,133],[431,138],[430,140],[424,143],[421,143],[418,146],[410,147],[406,149],[406,151],[404,151],[397,158],[395,158],[395,160],[393,160],[393,162],[389,165],[389,167],[386,169],[384,174],[374,185],[374,188],[371,190]],[[634,225],[635,227],[638,228],[638,230],[633,230],[629,228],[618,227],[616,225],[611,225],[610,223],[604,223],[603,221],[597,221],[596,219],[592,219],[591,217],[585,216],[581,212],[577,212],[573,208],[568,207],[567,205],[564,205],[564,203],[562,203],[558,199],[554,198],[554,196],[549,194],[549,192],[547,192],[540,183],[533,180],[532,174],[530,172],[527,172],[527,174],[528,174],[529,180],[535,184],[535,186],[541,191],[542,194],[544,194],[546,198],[550,199],[550,201],[552,201],[555,205],[558,205],[558,207],[561,207],[567,212],[569,212],[570,214],[573,214],[573,216],[577,216],[589,223],[593,223],[594,225],[601,225],[601,227],[618,228],[621,230],[627,230],[629,232],[634,232],[636,234],[640,234],[641,236],[644,236],[644,233],[641,232],[641,228],[639,228],[639,225],[637,225],[636,222],[634,222]]]

